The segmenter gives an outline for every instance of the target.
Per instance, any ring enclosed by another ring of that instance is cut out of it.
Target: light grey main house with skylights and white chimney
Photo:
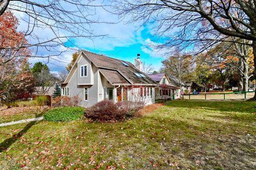
[[[81,106],[90,107],[105,99],[155,103],[157,83],[142,72],[139,54],[134,66],[83,50],[61,87],[62,96],[78,96]]]

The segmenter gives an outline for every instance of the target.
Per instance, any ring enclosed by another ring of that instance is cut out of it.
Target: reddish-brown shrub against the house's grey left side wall
[[[79,106],[82,99],[78,96],[58,96],[54,98],[55,106]]]

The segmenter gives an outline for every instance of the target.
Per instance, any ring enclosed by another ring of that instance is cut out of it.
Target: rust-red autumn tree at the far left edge
[[[0,16],[0,102],[10,106],[16,99],[26,98],[33,91],[33,75],[28,70],[28,48],[15,48],[27,43],[19,22],[12,12]]]

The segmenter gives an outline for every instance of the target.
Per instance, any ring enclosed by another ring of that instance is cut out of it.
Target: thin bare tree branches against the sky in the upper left
[[[91,28],[93,23],[102,23],[96,15],[99,8],[104,10],[102,3],[93,0],[0,0],[0,17],[6,11],[12,11],[19,15],[23,24],[27,24],[19,44],[0,48],[16,51],[6,60],[1,60],[0,65],[18,57],[17,52],[24,48],[34,50],[31,56],[62,61],[59,55],[70,47],[78,48],[73,43],[76,38],[105,36],[96,35]]]

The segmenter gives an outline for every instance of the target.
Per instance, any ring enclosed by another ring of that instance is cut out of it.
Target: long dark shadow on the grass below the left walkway
[[[43,114],[44,112],[36,114],[35,117],[41,117]],[[37,123],[39,123],[39,121],[29,122],[21,131],[13,134],[11,138],[5,139],[2,143],[0,143],[0,153],[6,151],[15,141],[20,139],[23,134],[25,134],[32,126],[36,125]]]

